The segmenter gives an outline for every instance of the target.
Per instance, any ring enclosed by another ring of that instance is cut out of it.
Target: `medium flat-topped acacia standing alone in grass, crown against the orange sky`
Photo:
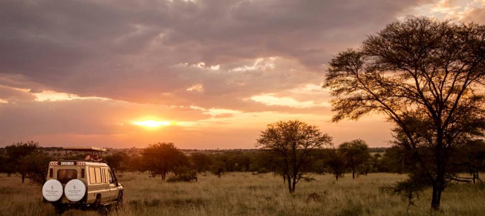
[[[330,145],[332,137],[320,132],[317,126],[294,120],[269,124],[257,141],[257,147],[278,155],[281,175],[286,177],[288,190],[293,193],[296,183],[308,171],[311,151]]]

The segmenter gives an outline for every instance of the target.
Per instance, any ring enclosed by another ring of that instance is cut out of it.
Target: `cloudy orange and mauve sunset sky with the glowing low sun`
[[[332,56],[388,23],[485,21],[481,0],[2,0],[0,147],[252,149],[299,119],[387,147],[379,114],[330,122]]]

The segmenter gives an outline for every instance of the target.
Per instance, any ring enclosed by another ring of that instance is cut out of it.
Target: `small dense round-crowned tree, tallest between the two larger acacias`
[[[356,169],[371,158],[369,147],[366,142],[361,139],[340,144],[339,151],[345,158],[347,167],[352,169],[352,179],[356,178]]]

